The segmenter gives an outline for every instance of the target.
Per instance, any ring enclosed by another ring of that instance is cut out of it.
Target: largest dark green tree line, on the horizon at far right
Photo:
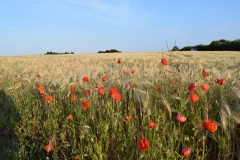
[[[176,46],[174,47],[173,51],[177,49]],[[196,48],[198,51],[240,51],[240,39],[233,41],[221,39],[212,41],[209,45],[186,46],[180,51],[191,51],[192,48]]]

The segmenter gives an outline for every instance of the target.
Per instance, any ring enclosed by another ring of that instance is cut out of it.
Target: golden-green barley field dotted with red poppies
[[[0,159],[240,159],[240,52],[0,57]]]

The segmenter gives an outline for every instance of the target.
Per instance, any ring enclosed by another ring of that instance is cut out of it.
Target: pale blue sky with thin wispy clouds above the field
[[[239,0],[1,0],[0,56],[166,51],[240,38]]]

